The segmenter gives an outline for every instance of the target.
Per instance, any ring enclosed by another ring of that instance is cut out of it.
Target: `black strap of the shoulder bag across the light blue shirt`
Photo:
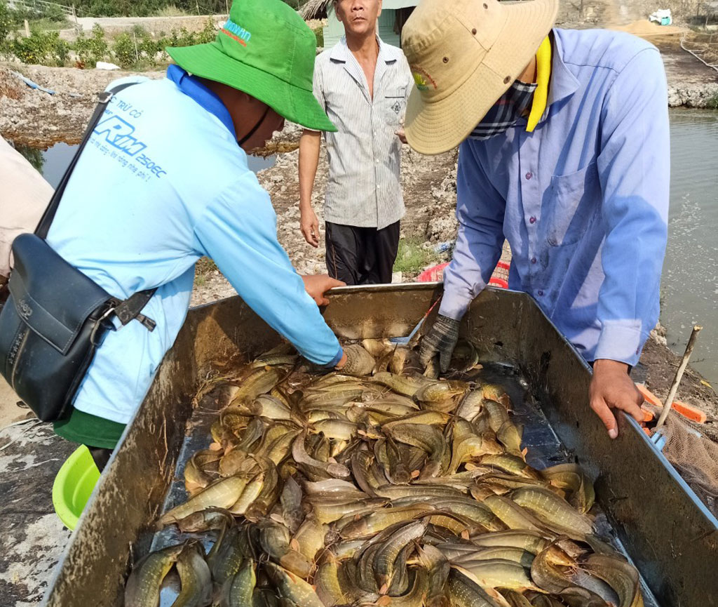
[[[42,214],[42,218],[37,224],[37,228],[35,228],[35,234],[43,240],[47,238],[47,233],[50,231],[50,224],[52,224],[52,220],[55,219],[55,213],[57,213],[57,207],[60,205],[62,194],[65,193],[65,187],[67,187],[67,182],[70,181],[70,176],[73,174],[73,170],[75,170],[75,165],[78,164],[78,159],[80,159],[80,154],[82,154],[83,149],[85,149],[85,145],[90,140],[90,137],[95,130],[95,126],[97,126],[98,122],[103,116],[103,113],[105,113],[105,110],[113,96],[115,96],[116,93],[119,93],[120,91],[123,91],[127,87],[134,84],[134,82],[121,84],[114,88],[111,88],[109,91],[103,91],[102,93],[100,93],[100,101],[97,104],[97,107],[95,107],[95,111],[90,118],[90,124],[88,124],[88,128],[85,129],[83,140],[82,142],[80,142],[80,145],[75,152],[73,159],[70,161],[70,165],[67,167],[67,170],[65,170],[65,174],[62,175],[62,179],[57,185],[57,190],[55,190],[55,193],[52,195],[52,198],[50,199],[50,204],[47,205],[45,213]],[[140,312],[142,308],[145,307],[147,302],[151,300],[155,291],[157,291],[157,287],[155,287],[154,289],[146,289],[146,291],[136,292],[134,295],[131,295],[126,300],[118,300],[114,297],[110,300],[113,307],[113,313],[117,316],[123,326],[136,318],[148,330],[154,330],[156,326],[154,320],[152,320],[151,318],[147,318],[144,314],[141,314]]]

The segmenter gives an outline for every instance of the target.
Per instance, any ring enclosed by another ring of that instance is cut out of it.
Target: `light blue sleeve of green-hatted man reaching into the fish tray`
[[[302,356],[326,366],[339,362],[342,348],[279,244],[269,194],[251,172],[208,205],[195,237],[247,305]]]

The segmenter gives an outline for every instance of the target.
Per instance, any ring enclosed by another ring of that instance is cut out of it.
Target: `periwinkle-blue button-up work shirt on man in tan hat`
[[[504,237],[509,287],[531,294],[587,361],[634,365],[658,320],[668,221],[668,99],[656,47],[622,32],[553,31],[533,133],[461,144],[459,236],[440,312],[460,318]],[[527,328],[530,330],[530,328]]]

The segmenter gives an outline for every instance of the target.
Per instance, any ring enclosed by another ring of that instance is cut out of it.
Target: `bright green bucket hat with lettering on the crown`
[[[314,131],[336,131],[312,93],[317,39],[281,0],[235,0],[217,39],[167,47],[190,74],[244,91]]]

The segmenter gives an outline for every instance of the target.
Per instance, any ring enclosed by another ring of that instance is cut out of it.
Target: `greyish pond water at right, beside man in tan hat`
[[[701,325],[691,364],[718,384],[718,112],[671,110],[671,207],[661,323],[682,354]]]

